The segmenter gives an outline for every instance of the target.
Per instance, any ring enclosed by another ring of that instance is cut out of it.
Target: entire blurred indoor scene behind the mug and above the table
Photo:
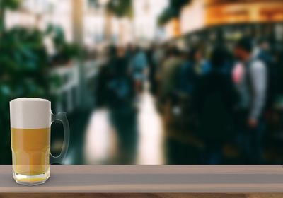
[[[21,97],[65,164],[282,164],[282,47],[282,0],[0,0],[0,164]]]

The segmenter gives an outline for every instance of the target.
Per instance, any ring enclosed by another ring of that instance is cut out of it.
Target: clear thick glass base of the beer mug
[[[50,177],[50,170],[40,175],[21,175],[13,171],[13,179],[20,185],[41,185]]]

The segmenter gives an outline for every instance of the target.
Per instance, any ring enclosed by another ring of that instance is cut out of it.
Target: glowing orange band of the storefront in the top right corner
[[[205,25],[283,21],[282,1],[205,1]]]

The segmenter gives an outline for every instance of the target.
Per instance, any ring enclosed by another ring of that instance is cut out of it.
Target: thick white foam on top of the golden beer
[[[17,98],[10,102],[11,127],[16,129],[49,128],[50,101],[41,98]]]

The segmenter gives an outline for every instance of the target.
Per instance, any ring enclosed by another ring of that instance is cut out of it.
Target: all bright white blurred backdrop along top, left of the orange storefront
[[[168,0],[134,0],[132,1],[133,16],[117,17],[108,15],[103,2],[93,4],[91,0],[79,0],[82,8],[70,0],[23,0],[21,9],[6,13],[6,26],[13,28],[17,25],[36,27],[45,30],[48,24],[58,25],[64,30],[68,42],[74,42],[74,12],[83,9],[83,44],[93,48],[106,39],[117,45],[126,45],[137,40],[151,42],[158,37],[157,18]],[[105,1],[106,3],[108,1]],[[100,5],[100,6],[98,6]]]

